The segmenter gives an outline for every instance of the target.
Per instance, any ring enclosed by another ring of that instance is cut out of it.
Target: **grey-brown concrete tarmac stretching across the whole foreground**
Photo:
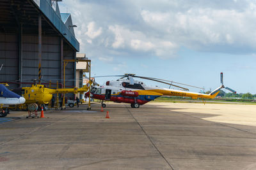
[[[256,105],[108,103],[26,115],[0,118],[0,169],[256,169]]]

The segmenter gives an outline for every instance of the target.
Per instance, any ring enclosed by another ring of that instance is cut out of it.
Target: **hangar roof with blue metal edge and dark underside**
[[[79,51],[79,42],[61,20],[58,3],[51,0],[1,0],[0,32],[17,33],[22,25],[24,34],[38,34],[38,15],[42,14],[42,35],[62,36],[74,50]]]

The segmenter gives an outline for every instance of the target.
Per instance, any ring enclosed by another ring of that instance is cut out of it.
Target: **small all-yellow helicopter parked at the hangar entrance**
[[[87,92],[89,87],[92,85],[93,81],[88,81],[86,85],[81,88],[74,87],[72,89],[49,89],[41,84],[33,84],[31,87],[22,87],[20,89],[15,89],[13,92],[21,94],[25,99],[25,104],[48,104],[52,99],[52,94],[66,94],[66,93],[78,93]]]

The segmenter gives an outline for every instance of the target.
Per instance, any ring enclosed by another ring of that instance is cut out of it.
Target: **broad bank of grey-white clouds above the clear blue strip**
[[[98,59],[134,54],[166,59],[175,57],[181,47],[233,54],[256,50],[255,0],[67,0],[59,4],[72,13],[81,51]]]

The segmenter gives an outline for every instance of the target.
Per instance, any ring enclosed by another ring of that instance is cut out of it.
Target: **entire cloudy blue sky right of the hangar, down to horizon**
[[[134,73],[207,91],[220,86],[223,72],[225,86],[256,94],[256,0],[63,0],[59,6],[77,25],[92,76]],[[96,79],[107,80],[116,78]]]

